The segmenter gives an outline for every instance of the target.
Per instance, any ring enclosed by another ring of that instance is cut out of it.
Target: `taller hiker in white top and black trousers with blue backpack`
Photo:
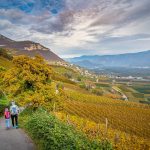
[[[12,105],[10,106],[10,113],[11,113],[11,121],[13,128],[18,128],[18,113],[19,108],[17,105],[15,105],[15,102],[12,101]]]

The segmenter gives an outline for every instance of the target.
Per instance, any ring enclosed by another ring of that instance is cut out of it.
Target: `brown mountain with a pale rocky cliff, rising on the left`
[[[0,47],[11,49],[15,55],[35,56],[40,54],[47,61],[63,61],[50,49],[32,41],[14,41],[0,34]]]

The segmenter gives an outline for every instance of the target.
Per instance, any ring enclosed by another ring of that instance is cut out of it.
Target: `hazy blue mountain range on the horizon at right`
[[[119,55],[93,55],[68,59],[69,62],[91,69],[104,67],[150,67],[150,50]],[[88,61],[88,63],[87,63]],[[89,67],[90,64],[90,67]]]

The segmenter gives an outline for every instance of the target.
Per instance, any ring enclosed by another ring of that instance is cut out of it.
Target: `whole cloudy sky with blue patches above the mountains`
[[[0,34],[61,57],[150,49],[150,0],[0,0]]]

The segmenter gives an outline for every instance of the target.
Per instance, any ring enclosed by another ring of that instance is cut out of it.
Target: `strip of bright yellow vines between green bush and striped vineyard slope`
[[[90,139],[97,139],[100,141],[108,139],[116,150],[148,150],[150,148],[148,140],[110,127],[106,129],[106,125],[103,123],[95,123],[94,121],[75,115],[67,115],[62,112],[55,113],[55,115],[62,121],[75,127],[77,130],[84,132]]]

